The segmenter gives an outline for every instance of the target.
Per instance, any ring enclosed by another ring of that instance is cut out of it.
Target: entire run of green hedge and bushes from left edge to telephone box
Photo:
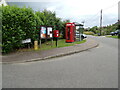
[[[38,40],[39,30],[34,26],[52,25],[54,30],[58,29],[64,34],[64,25],[68,21],[62,21],[55,12],[47,10],[34,12],[26,7],[2,6],[2,53],[24,47],[22,40]]]

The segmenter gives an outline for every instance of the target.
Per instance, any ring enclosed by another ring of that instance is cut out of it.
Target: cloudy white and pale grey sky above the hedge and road
[[[62,20],[82,23],[84,27],[99,26],[100,11],[103,13],[103,26],[111,25],[118,20],[119,0],[6,0],[9,2],[24,2],[34,10],[47,9],[55,11]],[[26,3],[27,2],[27,3]],[[36,2],[36,3],[35,3]],[[22,3],[23,4],[23,3]]]

